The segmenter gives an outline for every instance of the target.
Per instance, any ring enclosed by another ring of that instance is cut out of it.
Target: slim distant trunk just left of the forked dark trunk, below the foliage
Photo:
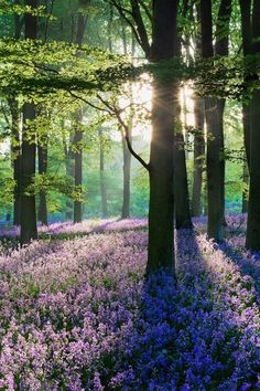
[[[198,216],[202,214],[202,188],[203,188],[203,166],[205,156],[205,139],[204,139],[204,121],[205,121],[205,105],[204,99],[195,96],[194,98],[194,171],[193,171],[193,198],[192,198],[192,215]]]

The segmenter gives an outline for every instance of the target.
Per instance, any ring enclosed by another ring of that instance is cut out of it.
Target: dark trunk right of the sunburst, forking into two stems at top
[[[202,54],[208,59],[214,55],[212,0],[201,1],[202,13]],[[228,54],[228,33],[223,29],[229,27],[231,0],[223,0],[218,12],[216,30],[216,54]],[[207,123],[207,192],[209,239],[217,242],[224,239],[225,224],[225,160],[224,160],[224,116],[225,99],[205,98]]]

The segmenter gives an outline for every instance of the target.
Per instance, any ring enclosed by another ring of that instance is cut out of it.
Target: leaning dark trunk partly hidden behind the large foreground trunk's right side
[[[177,230],[184,230],[191,229],[193,223],[189,209],[185,141],[181,123],[178,95],[178,93],[175,95],[174,102],[175,118],[177,119],[174,134],[174,199],[175,225]]]

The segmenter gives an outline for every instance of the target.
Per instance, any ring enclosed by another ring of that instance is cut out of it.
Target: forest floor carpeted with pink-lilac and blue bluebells
[[[260,390],[260,254],[245,216],[175,235],[177,283],[144,281],[145,220],[56,223],[0,250],[0,390]]]

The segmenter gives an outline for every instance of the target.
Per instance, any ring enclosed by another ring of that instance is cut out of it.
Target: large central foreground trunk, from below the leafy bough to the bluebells
[[[166,267],[174,274],[173,91],[161,80],[153,88],[148,273]]]

